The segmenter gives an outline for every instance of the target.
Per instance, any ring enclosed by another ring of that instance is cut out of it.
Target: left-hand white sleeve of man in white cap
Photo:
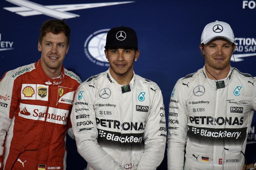
[[[172,91],[167,138],[168,170],[183,170],[185,144],[187,138],[188,111],[184,89],[177,82]]]

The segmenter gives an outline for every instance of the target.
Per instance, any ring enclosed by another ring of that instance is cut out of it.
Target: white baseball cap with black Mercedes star
[[[231,43],[235,43],[235,36],[230,25],[225,22],[215,21],[204,27],[201,44],[207,44],[217,37],[225,38]]]

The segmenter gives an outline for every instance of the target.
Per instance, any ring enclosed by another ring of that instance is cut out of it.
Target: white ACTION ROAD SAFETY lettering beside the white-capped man
[[[236,41],[236,50],[235,52],[243,54],[234,54],[236,62],[244,61],[243,58],[256,56],[256,38],[235,38]],[[234,59],[231,57],[231,61],[234,62]]]

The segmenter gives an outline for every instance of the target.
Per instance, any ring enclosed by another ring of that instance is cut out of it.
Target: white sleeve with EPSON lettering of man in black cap
[[[78,153],[97,170],[121,170],[119,163],[108,155],[98,144],[94,94],[91,89],[80,85],[75,95],[71,123]]]

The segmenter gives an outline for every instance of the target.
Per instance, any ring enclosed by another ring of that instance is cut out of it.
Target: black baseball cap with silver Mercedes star
[[[108,48],[135,48],[138,49],[136,32],[129,27],[115,27],[108,31],[106,46]]]

